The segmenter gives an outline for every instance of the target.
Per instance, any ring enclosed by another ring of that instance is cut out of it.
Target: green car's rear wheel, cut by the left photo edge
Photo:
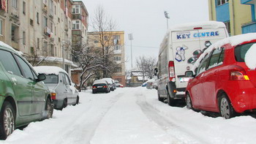
[[[0,139],[7,139],[15,129],[15,110],[10,102],[4,102],[0,113]]]

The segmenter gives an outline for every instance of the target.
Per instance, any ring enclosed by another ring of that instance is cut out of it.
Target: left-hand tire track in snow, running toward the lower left
[[[79,118],[69,123],[71,125],[67,127],[72,127],[72,129],[68,129],[66,132],[65,129],[63,129],[64,134],[61,134],[58,140],[56,140],[56,143],[89,144],[91,138],[94,137],[94,132],[102,121],[102,118],[104,118],[105,114],[108,113],[108,110],[110,110],[122,95],[122,93],[115,94],[113,98],[110,99],[108,107],[101,107],[100,110],[98,110],[99,108],[96,108],[96,110],[94,108],[99,107],[100,102],[94,102],[94,104],[91,105],[89,113],[80,113],[81,115]],[[74,120],[74,118],[72,118],[72,120]]]

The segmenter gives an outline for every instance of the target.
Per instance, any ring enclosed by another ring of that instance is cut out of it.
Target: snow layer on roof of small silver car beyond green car
[[[39,66],[39,67],[34,67],[34,69],[37,71],[37,73],[44,73],[45,75],[50,75],[50,74],[59,75],[59,72],[64,72],[67,74],[67,72],[64,69],[61,69],[60,67],[54,67],[54,66]]]

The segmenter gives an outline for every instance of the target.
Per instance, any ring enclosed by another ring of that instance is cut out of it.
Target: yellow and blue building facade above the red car
[[[255,20],[249,0],[208,0],[209,19],[222,21],[230,36],[254,31],[244,31],[246,23]]]

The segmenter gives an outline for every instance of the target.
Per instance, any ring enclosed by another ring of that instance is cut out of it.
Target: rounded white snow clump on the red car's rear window
[[[256,44],[252,45],[251,48],[246,52],[244,61],[249,69],[256,69]]]

